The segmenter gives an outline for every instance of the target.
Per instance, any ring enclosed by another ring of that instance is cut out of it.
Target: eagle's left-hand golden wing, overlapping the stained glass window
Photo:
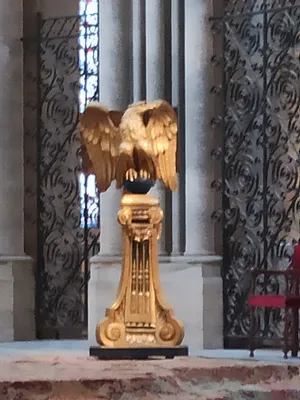
[[[90,103],[80,118],[80,131],[100,192],[115,179],[119,154],[119,124],[122,112],[108,111],[101,104]]]

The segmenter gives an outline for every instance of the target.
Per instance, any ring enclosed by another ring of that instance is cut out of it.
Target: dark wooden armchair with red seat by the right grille
[[[284,337],[283,337],[283,353],[284,358],[287,358],[288,352],[291,350],[292,357],[298,356],[299,341],[299,308],[300,308],[300,245],[294,247],[294,255],[291,264],[286,270],[258,270],[253,269],[252,286],[249,294],[248,304],[250,306],[250,332],[249,345],[250,357],[254,357],[255,350],[255,329],[256,329],[256,309],[261,308],[280,308],[284,309]],[[279,294],[256,294],[257,280],[262,277],[264,286],[270,278],[282,279],[284,281],[285,290]]]

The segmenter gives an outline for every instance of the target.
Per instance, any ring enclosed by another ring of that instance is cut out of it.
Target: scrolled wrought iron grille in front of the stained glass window
[[[99,196],[81,171],[79,113],[98,98],[98,14],[40,20],[37,332],[81,338]],[[91,189],[90,189],[91,188]]]

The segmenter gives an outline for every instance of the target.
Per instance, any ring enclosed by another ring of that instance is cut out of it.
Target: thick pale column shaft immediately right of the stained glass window
[[[131,0],[100,2],[100,101],[124,110],[132,101]],[[121,254],[121,233],[116,217],[121,192],[113,185],[101,195],[100,254]]]

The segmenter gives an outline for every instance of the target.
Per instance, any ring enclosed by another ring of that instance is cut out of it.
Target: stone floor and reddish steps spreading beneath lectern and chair
[[[83,341],[0,344],[0,400],[300,399],[300,359],[191,350],[175,360],[97,361]]]

